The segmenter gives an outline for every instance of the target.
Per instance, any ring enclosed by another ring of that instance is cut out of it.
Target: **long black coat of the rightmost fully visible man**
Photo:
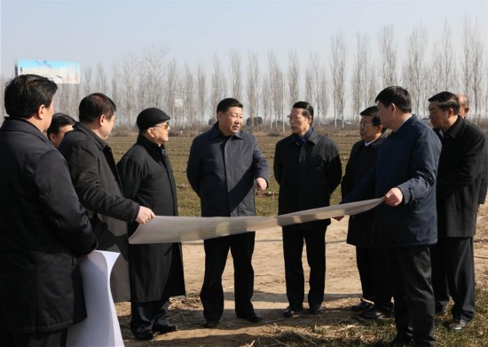
[[[476,233],[485,151],[484,133],[460,117],[444,134],[437,173],[439,236],[469,237]]]

